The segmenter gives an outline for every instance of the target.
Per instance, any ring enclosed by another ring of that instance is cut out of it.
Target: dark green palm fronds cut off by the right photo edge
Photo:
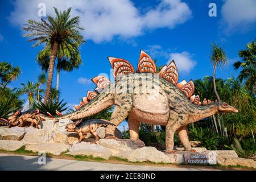
[[[251,94],[256,92],[256,40],[246,44],[246,49],[239,51],[241,61],[234,63],[234,68],[242,68],[238,75],[240,81],[245,81],[246,88]]]

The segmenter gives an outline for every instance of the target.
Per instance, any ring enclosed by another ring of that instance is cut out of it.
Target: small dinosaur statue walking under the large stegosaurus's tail
[[[95,138],[95,142],[98,141],[98,135],[96,133],[96,130],[101,126],[108,126],[113,125],[113,123],[110,123],[109,121],[105,119],[89,119],[88,121],[83,122],[80,126],[78,126],[82,122],[82,119],[79,121],[76,121],[75,123],[68,124],[65,129],[67,129],[68,132],[76,131],[76,133],[79,134],[79,142],[82,141],[82,139],[86,136],[87,133],[90,133]]]

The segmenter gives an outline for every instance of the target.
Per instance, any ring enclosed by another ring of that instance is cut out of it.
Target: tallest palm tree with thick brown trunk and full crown
[[[32,46],[38,46],[42,43],[50,43],[51,56],[49,60],[48,79],[46,93],[44,96],[44,103],[49,101],[52,88],[53,69],[55,65],[55,59],[59,49],[63,49],[63,45],[76,48],[75,43],[84,42],[83,37],[79,34],[79,30],[84,30],[80,27],[80,17],[75,16],[71,18],[71,8],[67,11],[58,11],[55,7],[56,16],[47,16],[47,20],[41,19],[41,22],[35,20],[28,20],[27,27],[23,29],[30,31],[30,33],[24,35],[25,37],[31,37],[28,42],[35,41]]]

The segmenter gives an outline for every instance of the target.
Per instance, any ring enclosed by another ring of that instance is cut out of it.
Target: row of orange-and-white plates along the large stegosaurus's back
[[[134,73],[133,65],[129,63],[129,61],[115,57],[108,57],[108,59],[113,69],[112,73],[114,78]],[[144,51],[141,51],[141,56],[139,57],[137,73],[156,73],[155,61],[152,60],[151,57]],[[163,68],[159,71],[158,76],[164,78],[165,80],[179,88],[185,94],[185,96],[195,105],[206,105],[212,102],[210,100],[207,100],[206,98],[204,98],[203,102],[200,102],[200,97],[195,94],[193,95],[193,93],[195,92],[195,85],[192,80],[190,80],[189,82],[182,80],[178,83],[179,72],[174,60],[172,60],[170,64],[164,65]],[[102,90],[110,85],[109,78],[105,76],[96,76],[92,78],[92,81],[94,82],[94,84],[97,85],[95,92],[88,91],[87,96],[82,98],[80,104],[75,105],[76,110],[87,104],[90,100],[96,97],[98,93],[101,93]],[[57,114],[61,116],[61,114]]]

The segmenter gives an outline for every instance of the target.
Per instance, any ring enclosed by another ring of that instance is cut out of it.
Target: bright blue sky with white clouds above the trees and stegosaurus
[[[216,17],[208,15],[212,2],[217,5]],[[210,43],[218,43],[225,48],[229,63],[218,69],[216,76],[237,76],[232,64],[256,33],[255,0],[1,1],[0,61],[22,69],[11,87],[27,80],[36,82],[41,72],[35,58],[43,47],[32,48],[22,36],[27,19],[40,18],[39,3],[46,5],[47,15],[53,15],[53,6],[60,10],[72,6],[72,14],[80,15],[85,28],[81,32],[86,39],[81,47],[82,66],[60,73],[61,98],[70,105],[78,104],[79,98],[94,88],[90,78],[100,73],[110,76],[106,57],[121,57],[137,67],[140,49],[158,59],[158,65],[175,59],[181,81],[212,75]]]

